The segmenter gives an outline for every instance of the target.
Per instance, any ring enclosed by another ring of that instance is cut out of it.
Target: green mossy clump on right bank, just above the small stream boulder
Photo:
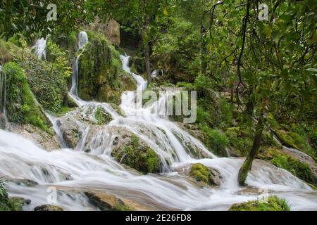
[[[209,127],[201,127],[204,134],[204,143],[213,153],[219,156],[228,156],[226,148],[229,146],[229,139],[221,131],[210,129]]]

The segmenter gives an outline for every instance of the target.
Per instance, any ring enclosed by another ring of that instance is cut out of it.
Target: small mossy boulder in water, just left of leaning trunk
[[[189,176],[196,181],[203,182],[209,186],[220,185],[220,174],[213,169],[209,169],[200,163],[193,164]]]

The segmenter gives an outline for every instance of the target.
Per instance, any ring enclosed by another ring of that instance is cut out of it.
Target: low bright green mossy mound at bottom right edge
[[[290,205],[284,198],[271,196],[267,201],[263,199],[234,204],[229,211],[290,211]]]

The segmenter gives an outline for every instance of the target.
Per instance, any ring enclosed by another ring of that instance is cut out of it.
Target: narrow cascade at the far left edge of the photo
[[[6,73],[2,71],[0,65],[0,128],[6,129],[8,121],[6,119]]]

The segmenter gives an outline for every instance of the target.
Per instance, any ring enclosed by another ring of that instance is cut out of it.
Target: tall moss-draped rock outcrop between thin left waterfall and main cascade
[[[79,60],[78,94],[84,100],[120,103],[125,90],[134,90],[135,81],[126,75],[118,51],[102,34],[87,32],[89,43]]]

